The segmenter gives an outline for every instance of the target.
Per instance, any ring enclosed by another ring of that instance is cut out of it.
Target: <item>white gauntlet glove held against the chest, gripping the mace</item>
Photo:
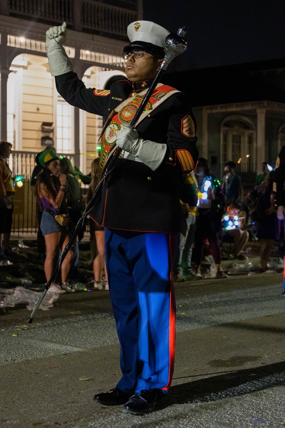
[[[120,149],[137,156],[145,165],[155,171],[165,156],[166,144],[143,140],[135,129],[121,125],[117,133],[116,144]]]

